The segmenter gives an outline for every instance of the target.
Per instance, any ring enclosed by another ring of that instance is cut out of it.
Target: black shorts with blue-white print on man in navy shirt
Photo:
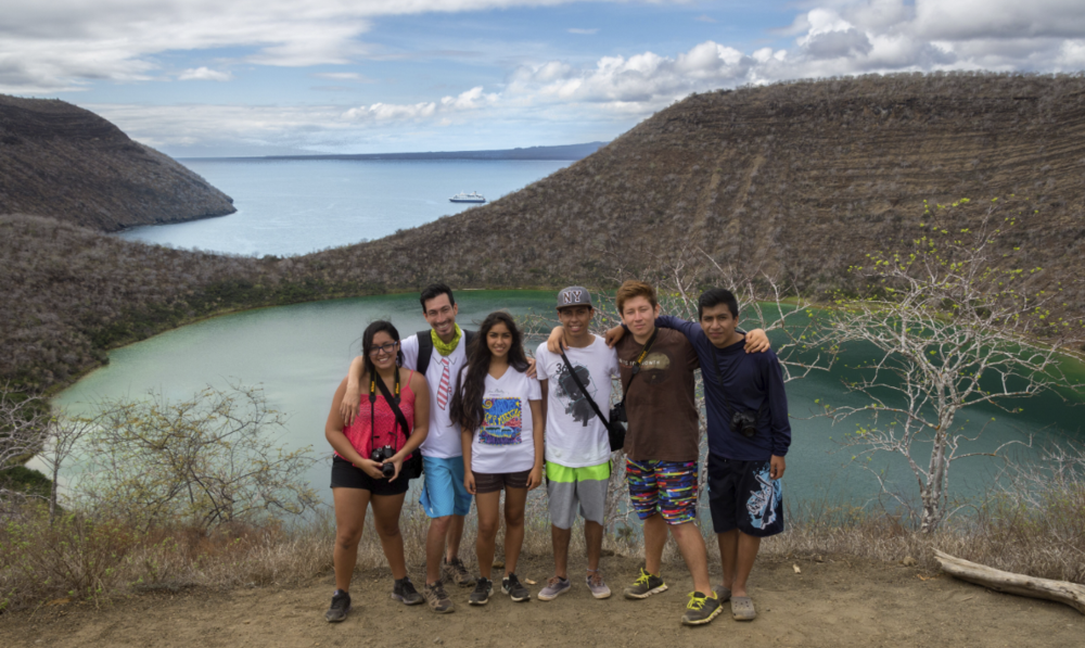
[[[737,461],[709,453],[712,529],[768,537],[783,531],[783,484],[769,477],[768,461]]]

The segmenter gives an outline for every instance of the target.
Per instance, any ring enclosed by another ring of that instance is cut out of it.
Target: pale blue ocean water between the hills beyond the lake
[[[571,161],[182,160],[233,199],[228,216],[137,227],[116,236],[181,249],[264,256],[380,239],[459,214],[461,191],[494,201]]]

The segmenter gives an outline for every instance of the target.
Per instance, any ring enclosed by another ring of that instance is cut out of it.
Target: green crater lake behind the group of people
[[[499,308],[514,315],[553,313],[551,292],[459,291],[457,302],[457,321],[464,328],[473,328]],[[360,352],[361,332],[374,319],[390,319],[403,336],[427,328],[417,294],[316,302],[218,317],[113,351],[106,367],[64,391],[54,403],[82,412],[93,409],[94,402],[102,398],[140,397],[151,390],[179,401],[208,384],[260,385],[270,406],[289,417],[282,443],[290,447],[310,445],[321,459],[307,478],[330,503],[331,448],[324,441],[324,420],[335,387]],[[536,343],[528,344],[529,352]],[[841,365],[854,365],[859,357],[856,352],[850,356]],[[1080,369],[1074,364],[1074,371]],[[784,483],[792,504],[799,498],[825,498],[833,504],[861,505],[878,498],[873,477],[852,461],[856,448],[839,443],[859,421],[833,428],[826,418],[812,418],[825,403],[861,403],[844,393],[840,379],[839,371],[820,372],[787,385],[793,441]],[[981,441],[970,450],[991,450],[1007,441],[1026,440],[1030,433],[1037,440],[1052,435],[1083,439],[1080,417],[1085,410],[1075,408],[1074,402],[1045,394],[1018,404],[1024,411],[1012,417],[995,407],[965,410],[960,419],[969,419],[970,429],[986,425]],[[1027,457],[1035,450],[1016,449],[1013,454]],[[923,466],[928,462],[920,453],[917,460]],[[883,454],[869,465],[884,469],[901,493],[916,493],[916,482],[902,458]],[[953,467],[950,490],[959,496],[975,496],[988,487],[1001,467],[998,459],[963,459]]]

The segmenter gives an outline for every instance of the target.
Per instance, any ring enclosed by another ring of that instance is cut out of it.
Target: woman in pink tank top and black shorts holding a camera
[[[399,332],[392,322],[374,321],[361,336],[365,370],[358,416],[344,430],[339,404],[346,379],[332,398],[324,436],[335,450],[332,496],[335,501],[335,593],[324,613],[343,621],[350,611],[350,576],[358,560],[366,509],[372,506],[376,533],[395,583],[392,597],[406,605],[422,602],[407,576],[399,511],[409,487],[404,462],[418,453],[430,423],[430,387],[425,378],[401,369]],[[416,424],[417,423],[417,424]]]

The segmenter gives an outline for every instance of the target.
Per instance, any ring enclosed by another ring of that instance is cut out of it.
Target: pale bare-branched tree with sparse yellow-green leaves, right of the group
[[[968,201],[955,204],[963,207]],[[948,216],[931,214],[931,219]],[[850,435],[860,454],[889,452],[907,461],[919,487],[920,529],[932,532],[948,509],[954,461],[994,452],[968,452],[982,433],[967,433],[958,414],[990,404],[1018,411],[1014,399],[1068,385],[1059,361],[1070,322],[1048,320],[1059,295],[1030,294],[1026,278],[1041,268],[998,269],[995,242],[1016,221],[996,223],[987,212],[975,229],[924,224],[911,254],[869,255],[870,265],[853,270],[875,287],[868,298],[841,298],[821,341],[872,350],[844,381],[863,394],[863,406],[827,407],[834,422],[869,416]],[[1039,342],[1037,334],[1049,338]],[[1054,336],[1051,336],[1054,335]],[[1056,392],[1057,393],[1057,392]],[[1023,442],[1009,442],[1023,443]],[[930,456],[917,449],[930,445]],[[910,509],[911,503],[882,488]]]

